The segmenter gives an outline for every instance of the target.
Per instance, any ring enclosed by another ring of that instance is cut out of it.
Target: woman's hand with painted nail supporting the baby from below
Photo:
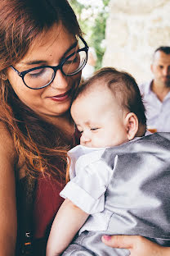
[[[103,235],[105,245],[129,249],[131,256],[169,256],[170,248],[163,247],[139,235]]]

